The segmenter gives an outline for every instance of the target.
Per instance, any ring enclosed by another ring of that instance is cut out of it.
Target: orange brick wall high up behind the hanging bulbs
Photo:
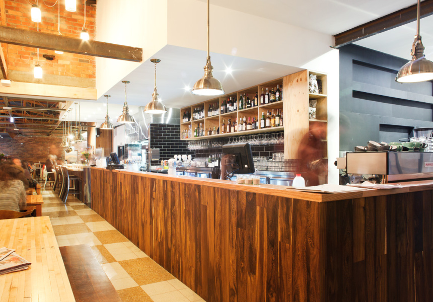
[[[60,1],[60,33],[63,36],[80,38],[84,24],[84,0],[77,1],[77,11],[74,13],[64,9],[64,0]],[[47,5],[53,5],[53,0],[46,0]],[[36,3],[36,0],[32,1]],[[42,22],[39,23],[39,31],[50,34],[57,34],[57,9],[47,7],[42,0],[39,1],[39,8],[42,12]],[[32,22],[30,10],[31,4],[28,0],[5,0],[6,25],[36,31],[36,23]],[[87,19],[86,29],[90,39],[96,35],[96,7],[86,6]],[[2,8],[0,8],[2,9]],[[3,21],[2,21],[3,22]],[[7,50],[7,62],[10,71],[33,72],[36,64],[37,53],[35,48],[2,44]],[[55,55],[55,59],[48,61],[42,57],[43,54]],[[73,53],[56,54],[52,50],[39,50],[39,62],[44,74],[63,75],[78,78],[96,78],[96,62],[93,56],[85,56]],[[17,79],[15,79],[17,81]]]

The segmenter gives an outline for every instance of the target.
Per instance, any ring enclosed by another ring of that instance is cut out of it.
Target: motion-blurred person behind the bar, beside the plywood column
[[[320,178],[328,171],[327,161],[323,159],[326,154],[326,144],[323,143],[325,138],[326,123],[312,123],[310,131],[299,144],[298,159],[301,170],[298,172],[303,172],[308,187],[320,185]]]

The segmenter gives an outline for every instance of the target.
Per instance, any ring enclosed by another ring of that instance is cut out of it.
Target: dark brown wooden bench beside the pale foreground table
[[[77,302],[122,301],[90,246],[60,247],[60,253]]]

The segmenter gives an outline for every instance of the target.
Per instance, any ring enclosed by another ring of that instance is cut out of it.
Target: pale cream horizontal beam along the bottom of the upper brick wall
[[[0,94],[96,100],[96,89],[94,88],[80,88],[24,82],[12,82],[10,87],[0,85]]]

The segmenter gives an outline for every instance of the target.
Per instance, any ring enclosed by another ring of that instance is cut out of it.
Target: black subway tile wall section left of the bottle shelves
[[[160,160],[168,160],[175,155],[192,155],[195,152],[188,150],[188,142],[180,140],[180,125],[174,124],[150,124],[151,148],[160,149]],[[152,161],[152,165],[159,165],[160,161]]]

